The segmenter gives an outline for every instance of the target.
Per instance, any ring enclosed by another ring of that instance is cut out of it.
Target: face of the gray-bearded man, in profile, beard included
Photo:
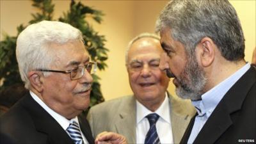
[[[161,70],[170,70],[174,75],[176,93],[184,99],[199,100],[203,93],[205,72],[196,61],[195,54],[188,56],[182,43],[173,40],[170,29],[161,31],[161,45],[165,51],[161,56]]]

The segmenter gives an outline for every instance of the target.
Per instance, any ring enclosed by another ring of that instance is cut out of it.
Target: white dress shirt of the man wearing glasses
[[[61,116],[60,114],[56,113],[55,111],[53,111],[51,108],[49,108],[49,106],[47,106],[41,99],[39,99],[39,97],[36,96],[35,93],[29,91],[30,95],[32,96],[32,98],[40,105],[42,106],[42,108],[45,109],[45,111],[47,111],[47,113],[49,113],[49,115],[51,115],[63,128],[64,131],[67,130],[69,124],[71,124],[73,121],[76,121],[77,124],[79,125],[77,116],[75,118],[72,118],[71,120],[68,120],[67,118],[65,118],[64,116]],[[79,125],[80,127],[80,125]],[[80,129],[81,131],[81,129]],[[67,131],[66,131],[67,132]],[[68,134],[68,132],[67,132]],[[88,141],[86,140],[86,138],[84,137],[83,132],[81,132],[82,137],[83,137],[83,141],[84,144],[88,144]],[[69,136],[69,134],[68,134]]]

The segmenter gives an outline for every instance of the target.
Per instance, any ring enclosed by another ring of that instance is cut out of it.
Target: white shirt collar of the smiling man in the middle
[[[143,104],[141,104],[138,100],[136,100],[136,119],[137,124],[145,118],[145,116],[149,115],[150,113],[157,113],[159,118],[163,118],[166,122],[170,124],[170,106],[167,93],[165,94],[165,98],[161,106],[156,111],[150,111],[147,109]]]

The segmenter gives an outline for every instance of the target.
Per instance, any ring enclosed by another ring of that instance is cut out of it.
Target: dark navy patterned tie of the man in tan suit
[[[150,115],[147,115],[146,118],[148,118],[150,128],[145,138],[145,144],[159,144],[160,140],[156,132],[156,122],[159,118],[159,115],[157,115],[156,113],[152,113]]]

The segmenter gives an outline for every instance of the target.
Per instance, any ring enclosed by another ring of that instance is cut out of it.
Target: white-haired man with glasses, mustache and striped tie
[[[79,29],[57,21],[31,24],[17,38],[16,56],[29,93],[0,118],[1,144],[125,143],[113,132],[94,141],[79,115],[89,106],[96,70]]]

